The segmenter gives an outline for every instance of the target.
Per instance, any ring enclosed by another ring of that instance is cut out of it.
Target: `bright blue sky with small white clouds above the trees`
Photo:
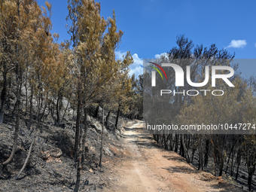
[[[59,42],[69,39],[67,1],[48,2],[53,5],[52,32],[59,33]],[[235,58],[256,58],[256,1],[102,0],[100,4],[105,19],[114,9],[117,27],[124,32],[117,56],[130,50],[134,59],[130,73],[136,76],[142,73],[143,58],[166,53],[176,45],[176,36],[183,34],[194,44],[214,43],[235,52]],[[256,74],[256,63],[240,64],[239,70],[244,76]]]

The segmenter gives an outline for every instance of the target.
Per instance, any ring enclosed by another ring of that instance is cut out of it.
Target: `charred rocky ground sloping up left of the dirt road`
[[[13,144],[15,118],[7,118],[10,123],[0,123],[0,163],[8,159]],[[98,166],[102,130],[100,113],[98,119],[87,117],[89,126],[87,159],[81,172],[80,191],[99,191],[106,187],[110,182],[105,174],[108,164],[112,163],[115,158],[123,157],[126,153],[123,146],[120,145],[120,140],[122,140],[120,131],[123,129],[123,124],[129,125],[133,121],[120,118],[118,129],[116,133],[113,133],[111,125],[114,124],[114,118],[114,115],[110,117],[109,129],[104,130],[103,167],[100,169]],[[22,116],[17,152],[14,160],[8,164],[0,178],[0,191],[73,191],[76,168],[73,159],[75,120],[72,117],[66,120],[65,127],[53,126],[53,120],[50,117],[44,120],[37,133],[29,165],[20,178],[15,179],[23,166],[32,136],[35,134],[33,126],[31,130],[26,129],[27,122],[28,117]]]

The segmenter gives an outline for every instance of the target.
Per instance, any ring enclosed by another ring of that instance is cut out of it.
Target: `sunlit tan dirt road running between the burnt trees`
[[[161,149],[142,122],[125,130],[126,157],[114,165],[105,191],[234,191],[211,174],[197,172],[175,152]]]

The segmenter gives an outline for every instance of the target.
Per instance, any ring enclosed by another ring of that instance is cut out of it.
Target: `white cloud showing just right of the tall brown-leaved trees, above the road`
[[[115,55],[117,59],[122,59],[123,55],[125,55],[126,52],[116,51]],[[132,76],[133,73],[135,74],[136,78],[139,78],[139,75],[143,74],[143,59],[139,58],[137,53],[133,54],[133,64],[130,65],[130,72],[129,75]]]

